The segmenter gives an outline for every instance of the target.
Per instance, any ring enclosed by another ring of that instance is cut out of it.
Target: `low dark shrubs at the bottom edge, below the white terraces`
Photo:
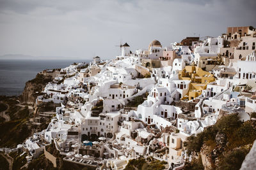
[[[154,160],[153,158],[145,160],[141,157],[139,159],[129,160],[127,166],[125,167],[125,170],[161,170],[165,169],[165,164],[167,164],[167,162]]]

